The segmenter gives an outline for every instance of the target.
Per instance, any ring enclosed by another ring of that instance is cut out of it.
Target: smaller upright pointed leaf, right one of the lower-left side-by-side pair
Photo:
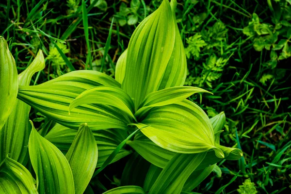
[[[72,169],[75,193],[82,194],[92,178],[98,158],[94,135],[86,123],[80,126],[65,157]]]

